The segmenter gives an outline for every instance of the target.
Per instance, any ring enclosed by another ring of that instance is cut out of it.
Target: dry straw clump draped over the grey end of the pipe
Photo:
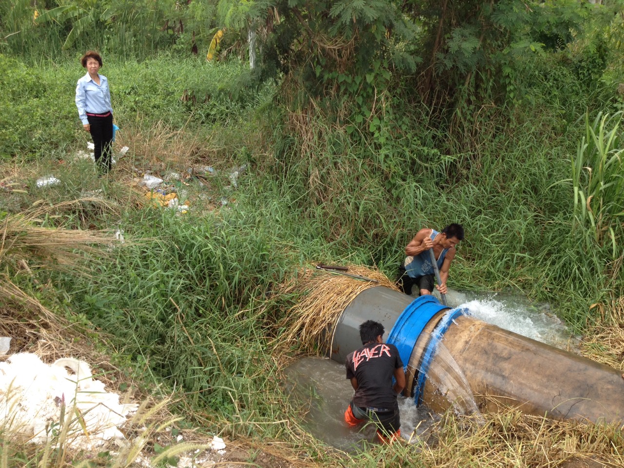
[[[277,324],[285,329],[273,343],[279,351],[323,354],[333,341],[336,323],[354,298],[374,286],[397,290],[383,273],[366,266],[349,265],[349,275],[365,276],[373,281],[317,270],[308,266],[281,286],[279,295],[301,295],[301,300],[286,312]]]

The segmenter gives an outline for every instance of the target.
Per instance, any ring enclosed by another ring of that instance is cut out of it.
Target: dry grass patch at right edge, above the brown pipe
[[[583,338],[584,356],[615,369],[624,370],[624,297],[610,305],[595,305],[599,316]]]

